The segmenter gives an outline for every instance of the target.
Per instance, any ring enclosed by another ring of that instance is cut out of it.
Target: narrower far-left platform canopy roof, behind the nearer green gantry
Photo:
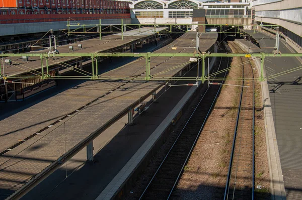
[[[160,32],[165,28],[156,28],[156,32]],[[72,46],[75,53],[100,53],[100,52],[112,52],[123,46],[129,46],[135,41],[144,39],[152,36],[155,33],[154,28],[144,27],[138,30],[131,30],[124,33],[124,40],[121,39],[121,34],[114,34],[109,36],[103,36],[102,40],[99,38],[94,38],[90,40],[85,40],[82,42],[73,43],[70,45],[63,45],[57,47],[60,53],[69,53],[69,46]],[[78,44],[82,44],[82,49],[78,49]],[[35,51],[33,53],[47,53],[49,49]],[[5,65],[6,76],[20,75],[31,71],[31,75],[41,75],[41,60],[39,57],[29,57],[29,61],[23,61],[19,57],[7,57],[5,59],[11,59],[12,65]],[[49,57],[48,66],[55,65],[57,63],[67,62],[73,60],[75,57]],[[63,63],[62,63],[63,64]],[[43,62],[44,67],[46,67],[46,60]]]

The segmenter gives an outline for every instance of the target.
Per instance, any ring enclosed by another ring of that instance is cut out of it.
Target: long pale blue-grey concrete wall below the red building
[[[79,21],[81,24],[99,24],[99,20]],[[131,24],[131,19],[123,19],[124,24]],[[121,24],[121,19],[102,20],[102,24]],[[1,24],[0,35],[19,35],[47,32],[66,29],[67,22],[43,22],[43,23],[23,23],[23,24]]]

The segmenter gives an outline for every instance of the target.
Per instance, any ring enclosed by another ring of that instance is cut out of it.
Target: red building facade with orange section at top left
[[[14,3],[14,5],[12,3]],[[10,5],[10,7],[6,5]],[[98,19],[98,14],[105,14],[106,17],[102,16],[102,19],[110,19],[118,18],[114,17],[113,14],[129,13],[129,3],[111,0],[0,0],[0,7],[11,8],[7,11],[0,11],[0,17],[4,15],[14,16],[14,23],[16,21],[15,16],[17,16],[17,18],[19,16],[19,19],[21,20],[22,17],[20,16],[30,16],[33,14],[35,14],[35,16],[31,17],[33,20],[38,20],[38,16],[41,15],[44,21],[65,21],[65,19],[60,20],[59,18],[56,18],[52,20],[48,18],[50,18],[50,15],[52,16],[55,14],[61,15],[62,19],[63,15],[79,14],[77,18],[82,19],[83,16],[85,16],[87,20],[92,20]],[[26,9],[24,9],[25,7]],[[18,8],[18,10],[14,8]],[[49,15],[45,16],[45,14]],[[86,16],[87,14],[91,17]],[[99,18],[100,17],[101,16],[99,16]],[[120,18],[122,18],[122,16],[120,16]],[[6,21],[6,23],[7,22],[8,21]]]

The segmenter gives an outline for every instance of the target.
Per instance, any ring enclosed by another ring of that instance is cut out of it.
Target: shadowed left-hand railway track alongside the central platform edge
[[[219,48],[220,50],[222,49],[221,46],[219,46]],[[222,59],[228,62],[228,58],[221,58],[217,70],[219,70],[220,67],[227,66],[221,66]],[[225,74],[219,74],[219,76],[224,77]],[[221,81],[219,82],[221,83]],[[213,108],[220,88],[221,85],[212,85],[207,88],[192,115],[189,117],[189,120],[185,126],[179,130],[178,137],[174,144],[168,151],[152,179],[148,182],[139,199],[170,198],[207,117]]]

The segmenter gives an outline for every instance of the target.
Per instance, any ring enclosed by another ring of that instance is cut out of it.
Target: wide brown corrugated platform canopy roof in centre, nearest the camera
[[[179,46],[181,52],[192,52],[194,48],[189,47],[196,45],[192,42],[194,37],[196,33],[186,33],[171,45]],[[208,50],[216,38],[216,33],[203,34],[199,44],[201,51]],[[165,47],[157,52],[172,51],[171,48],[163,49]],[[187,60],[156,58],[150,66],[153,75],[164,72],[165,76],[171,77],[184,68],[183,65],[175,66]],[[113,70],[112,75],[140,75],[144,72],[145,62],[139,65],[135,62],[140,60]],[[174,68],[167,70],[171,66]],[[109,73],[112,72],[106,76]],[[88,139],[103,132],[162,86],[161,82],[86,81],[0,121],[3,130],[0,135],[0,182],[4,185],[1,193],[10,195],[49,175],[64,159],[84,148]],[[107,143],[106,137],[103,142]]]

